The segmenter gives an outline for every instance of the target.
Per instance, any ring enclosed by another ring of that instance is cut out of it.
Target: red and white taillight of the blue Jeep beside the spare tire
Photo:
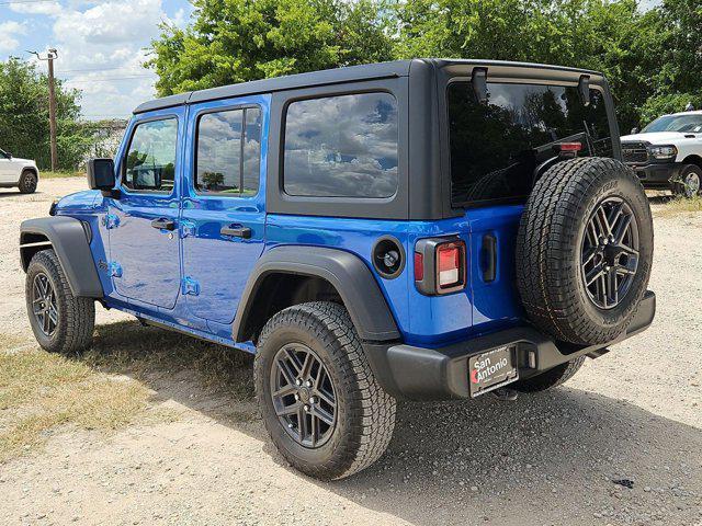
[[[466,285],[466,264],[463,240],[420,239],[415,249],[415,284],[429,296],[462,290]]]

